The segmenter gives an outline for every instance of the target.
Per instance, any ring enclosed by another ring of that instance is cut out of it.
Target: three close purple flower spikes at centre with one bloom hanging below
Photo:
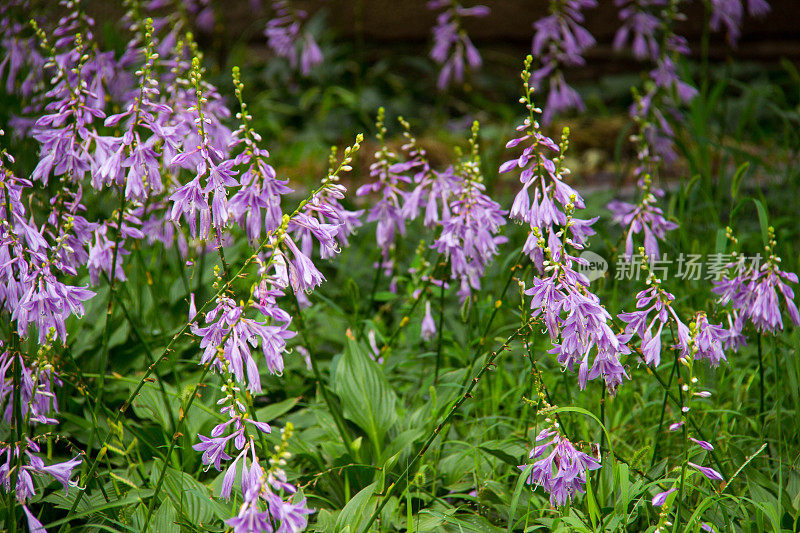
[[[404,235],[406,222],[417,219],[424,207],[424,225],[432,231],[438,230],[431,248],[448,261],[450,279],[458,282],[458,295],[463,303],[473,290],[481,288],[486,265],[499,253],[498,246],[507,240],[499,235],[506,213],[485,192],[478,153],[478,124],[475,122],[472,127],[469,158],[437,171],[431,168],[425,150],[418,146],[402,118],[400,123],[407,141],[402,149],[407,159],[401,160],[389,150],[384,139],[384,116],[381,108],[377,121],[381,148],[370,167],[370,174],[376,180],[362,185],[356,193],[381,194],[369,209],[367,221],[377,221],[376,240],[382,264],[387,269],[393,267],[391,252],[396,234]],[[444,278],[441,274],[439,277]],[[449,287],[445,279],[430,276],[426,279],[445,289]],[[425,308],[422,335],[430,338],[436,327],[429,302]]]

